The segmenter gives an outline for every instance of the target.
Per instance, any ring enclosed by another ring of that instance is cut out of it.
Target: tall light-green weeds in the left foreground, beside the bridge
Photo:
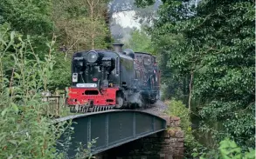
[[[53,124],[49,103],[41,96],[55,63],[54,43],[54,38],[46,43],[48,52],[40,59],[29,36],[10,31],[8,24],[0,26],[0,158],[68,158],[70,136],[56,146],[71,124]],[[76,158],[89,154],[83,147],[77,150]]]

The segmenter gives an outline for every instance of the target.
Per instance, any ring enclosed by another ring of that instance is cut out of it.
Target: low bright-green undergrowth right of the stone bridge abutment
[[[254,159],[255,149],[248,149],[242,151],[236,142],[225,138],[225,140],[217,143],[215,149],[206,148],[203,144],[197,141],[193,135],[192,123],[190,120],[190,111],[183,104],[182,101],[172,99],[166,102],[169,107],[167,114],[170,116],[179,116],[181,119],[181,129],[185,133],[184,147],[185,154],[184,158],[200,158],[200,159]]]

